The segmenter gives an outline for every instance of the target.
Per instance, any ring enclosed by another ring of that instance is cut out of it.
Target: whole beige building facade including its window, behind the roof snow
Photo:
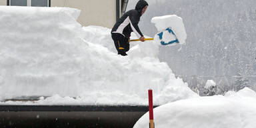
[[[73,7],[81,10],[77,21],[83,26],[112,28],[125,12],[128,0],[0,0],[0,5],[33,7]]]

